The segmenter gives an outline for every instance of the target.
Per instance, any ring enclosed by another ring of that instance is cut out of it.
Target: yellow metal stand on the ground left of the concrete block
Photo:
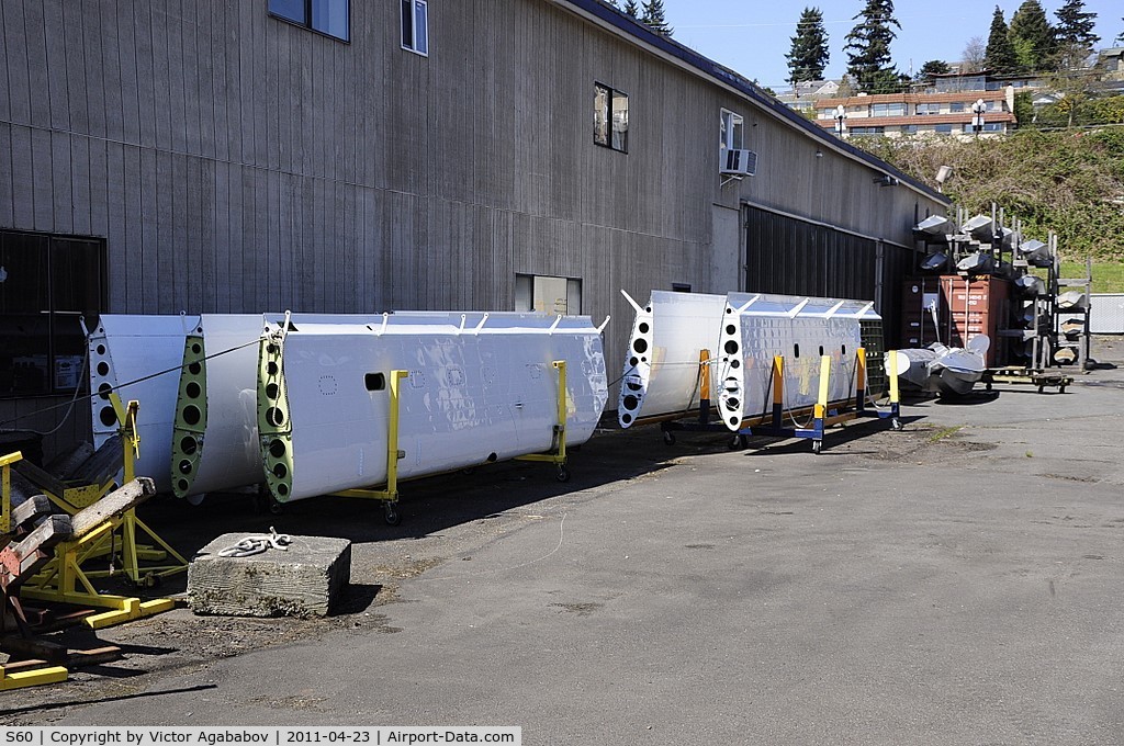
[[[124,452],[124,482],[128,483],[136,476],[135,464],[140,449],[140,437],[136,428],[139,404],[136,401],[123,404],[116,393],[110,393],[109,398],[117,413]],[[100,495],[103,495],[111,484],[94,486],[100,490]],[[71,515],[84,507],[73,504],[61,495],[47,493],[47,497]],[[147,535],[158,548],[152,545],[138,545],[138,533]],[[108,570],[83,570],[83,564],[99,557],[108,556],[112,563],[118,554],[118,546],[123,565],[120,568],[110,566]],[[174,562],[157,566],[140,566],[142,561],[163,562],[169,557]],[[135,585],[151,588],[160,579],[185,572],[187,568],[188,561],[137,518],[135,508],[130,508],[120,516],[107,517],[101,526],[80,539],[63,542],[55,547],[55,558],[20,589],[20,598],[107,608],[109,611],[84,619],[93,629],[100,629],[169,611],[175,607],[175,601],[172,599],[143,601],[135,597],[100,593],[90,582],[91,579],[111,577],[117,573],[124,573]]]

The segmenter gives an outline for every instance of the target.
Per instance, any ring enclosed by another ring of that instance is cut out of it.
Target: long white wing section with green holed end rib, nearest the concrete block
[[[566,386],[560,371],[566,363]],[[395,431],[402,479],[589,439],[608,397],[588,317],[395,313],[377,324],[274,326],[259,355],[257,426],[279,502],[381,484]],[[400,382],[395,371],[405,371]],[[397,422],[391,386],[398,385]]]

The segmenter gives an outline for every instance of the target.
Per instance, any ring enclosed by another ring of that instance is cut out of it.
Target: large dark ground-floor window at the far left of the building
[[[0,397],[84,384],[85,336],[106,295],[105,242],[0,230]]]

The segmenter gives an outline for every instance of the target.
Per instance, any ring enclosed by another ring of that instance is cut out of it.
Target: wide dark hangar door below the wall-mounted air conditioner
[[[872,300],[896,309],[910,252],[873,238],[745,206],[745,290]]]

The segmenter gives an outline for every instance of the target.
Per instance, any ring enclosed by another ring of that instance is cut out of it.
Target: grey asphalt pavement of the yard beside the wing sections
[[[193,546],[266,521],[352,538],[347,609],[107,630],[134,646],[117,675],[7,693],[0,721],[1121,744],[1124,343],[1098,360],[1122,367],[915,400],[903,431],[850,424],[818,456],[604,431],[568,484],[541,464],[419,482],[397,528],[356,502],[205,503],[173,521]]]

